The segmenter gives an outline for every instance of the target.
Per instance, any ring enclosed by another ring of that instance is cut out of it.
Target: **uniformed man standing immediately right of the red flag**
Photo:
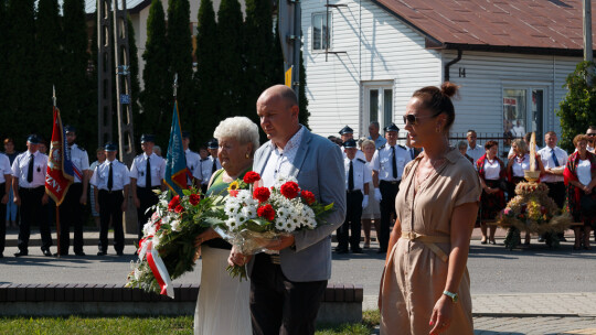
[[[70,233],[71,226],[73,226],[73,251],[76,256],[85,256],[83,252],[83,206],[87,205],[89,158],[85,149],[75,144],[75,128],[65,126],[64,131],[66,132],[66,153],[73,162],[74,183],[68,187],[64,201],[60,205],[60,255],[68,255]]]

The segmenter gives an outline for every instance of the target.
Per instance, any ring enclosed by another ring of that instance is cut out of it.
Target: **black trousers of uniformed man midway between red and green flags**
[[[123,230],[123,191],[106,191],[99,190],[99,251],[107,252],[107,230],[109,228],[109,219],[114,227],[114,249],[116,252],[124,250],[124,230]]]

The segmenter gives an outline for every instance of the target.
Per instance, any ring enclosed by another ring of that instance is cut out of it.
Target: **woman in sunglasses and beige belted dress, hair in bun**
[[[481,187],[447,134],[455,120],[444,83],[414,93],[404,116],[414,148],[395,201],[379,307],[381,334],[473,334],[466,263]]]

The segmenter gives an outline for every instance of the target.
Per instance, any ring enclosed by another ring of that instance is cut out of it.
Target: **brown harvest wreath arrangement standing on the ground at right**
[[[561,213],[555,202],[549,197],[549,187],[542,183],[519,183],[515,196],[499,215],[498,224],[509,228],[505,247],[514,248],[520,242],[521,230],[552,236],[565,230],[571,224],[571,216]],[[549,238],[556,246],[556,238]]]

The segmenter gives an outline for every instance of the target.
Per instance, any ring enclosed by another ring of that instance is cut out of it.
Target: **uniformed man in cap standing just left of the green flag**
[[[153,152],[156,138],[152,134],[141,136],[143,153],[137,155],[130,166],[130,192],[137,207],[137,233],[142,238],[142,226],[147,224],[152,210],[147,210],[159,201],[153,190],[166,191],[166,160]]]

